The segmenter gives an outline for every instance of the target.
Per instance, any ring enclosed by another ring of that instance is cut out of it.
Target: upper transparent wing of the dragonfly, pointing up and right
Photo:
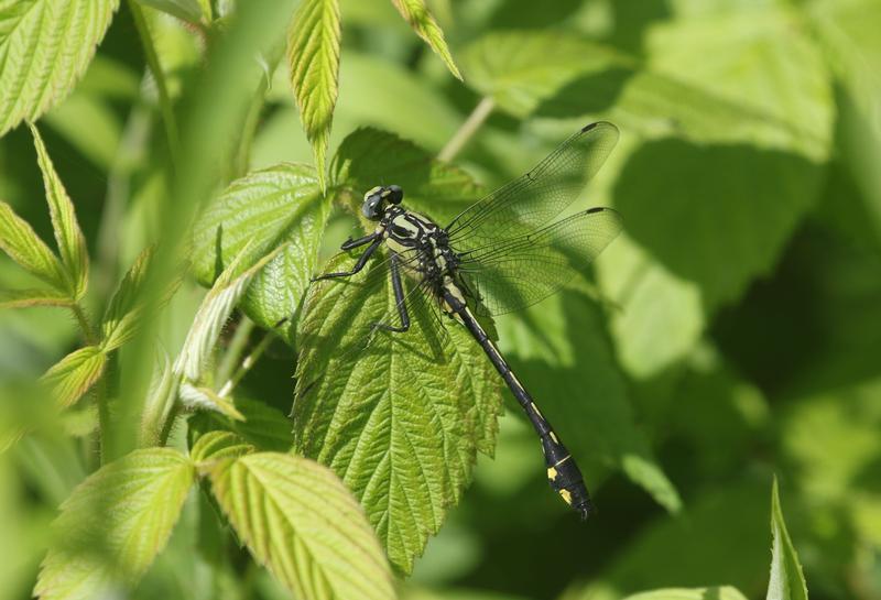
[[[618,128],[609,122],[585,127],[532,171],[457,216],[446,228],[452,244],[477,249],[547,225],[596,175],[617,142]]]

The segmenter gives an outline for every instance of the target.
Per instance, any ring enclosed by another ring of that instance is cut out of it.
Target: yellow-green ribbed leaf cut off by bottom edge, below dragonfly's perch
[[[329,470],[262,452],[209,470],[224,512],[251,554],[296,598],[394,598],[363,510]]]

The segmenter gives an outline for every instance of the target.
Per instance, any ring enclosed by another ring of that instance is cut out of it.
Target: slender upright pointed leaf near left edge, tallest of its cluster
[[[43,139],[40,137],[40,131],[34,126],[30,126],[30,128],[36,146],[36,162],[43,173],[52,229],[55,232],[62,264],[72,284],[73,299],[79,301],[86,293],[89,279],[89,252],[86,248],[86,238],[76,220],[74,203],[70,201],[67,190],[64,189],[64,185],[55,172]]]

